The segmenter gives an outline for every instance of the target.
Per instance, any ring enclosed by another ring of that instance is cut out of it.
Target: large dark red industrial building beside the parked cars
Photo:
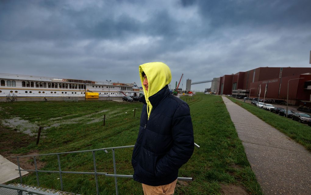
[[[289,86],[289,87],[288,87]],[[250,96],[287,100],[292,105],[311,105],[311,68],[259,67],[214,78],[211,92],[218,95]],[[266,91],[266,93],[265,93]]]

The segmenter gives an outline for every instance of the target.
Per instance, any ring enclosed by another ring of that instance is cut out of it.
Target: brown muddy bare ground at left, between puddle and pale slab
[[[9,161],[15,163],[16,165],[17,159],[10,158],[11,156],[38,154],[38,151],[29,151],[25,154],[15,154],[12,152],[16,149],[27,147],[31,142],[36,142],[35,137],[17,132],[17,130],[4,128],[0,125],[0,138],[0,155],[2,155],[4,158],[7,158]],[[31,170],[35,169],[33,157],[20,158],[19,161],[21,168]],[[44,167],[44,163],[40,162],[39,160],[36,160],[36,163],[38,169]]]

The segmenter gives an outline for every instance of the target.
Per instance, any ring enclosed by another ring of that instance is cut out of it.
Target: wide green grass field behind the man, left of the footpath
[[[181,97],[183,99],[185,97]],[[178,182],[175,194],[221,194],[230,185],[248,194],[262,194],[246,158],[242,142],[220,96],[195,95],[186,100],[191,109],[195,149],[191,159],[179,171],[179,177],[192,177],[192,182]],[[2,121],[17,117],[44,126],[44,138],[15,148],[13,154],[40,154],[135,144],[142,104],[138,102],[13,102],[1,103]],[[136,108],[136,116],[133,117]],[[103,126],[103,115],[106,125]],[[14,128],[11,128],[12,132]],[[16,129],[15,129],[16,130]],[[35,130],[32,130],[35,133]],[[15,131],[14,131],[15,132]],[[1,134],[1,132],[0,132]],[[2,136],[2,135],[1,135]],[[7,135],[8,136],[8,135]],[[25,135],[27,136],[27,135]],[[25,144],[25,143],[24,143]],[[0,152],[1,152],[0,148]],[[2,151],[3,152],[3,151]],[[132,175],[132,148],[116,149],[117,174]],[[57,157],[44,156],[41,170],[58,171]],[[92,153],[61,155],[63,171],[93,172]],[[112,152],[96,152],[97,172],[113,174]],[[59,174],[39,173],[41,187],[60,190]],[[114,194],[114,178],[98,176],[100,194]],[[19,182],[19,179],[12,182]],[[23,182],[36,185],[35,173]],[[95,178],[91,175],[63,174],[64,191],[95,194]],[[142,194],[142,187],[129,178],[118,178],[119,194]]]

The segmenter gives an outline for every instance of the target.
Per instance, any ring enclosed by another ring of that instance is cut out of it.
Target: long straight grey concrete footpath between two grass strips
[[[222,99],[263,193],[310,195],[311,153],[227,97]]]

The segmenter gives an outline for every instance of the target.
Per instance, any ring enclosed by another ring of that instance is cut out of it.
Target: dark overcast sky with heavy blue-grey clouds
[[[166,63],[171,88],[257,67],[311,67],[310,0],[0,0],[0,73],[133,83]],[[192,85],[192,90],[211,83]]]

